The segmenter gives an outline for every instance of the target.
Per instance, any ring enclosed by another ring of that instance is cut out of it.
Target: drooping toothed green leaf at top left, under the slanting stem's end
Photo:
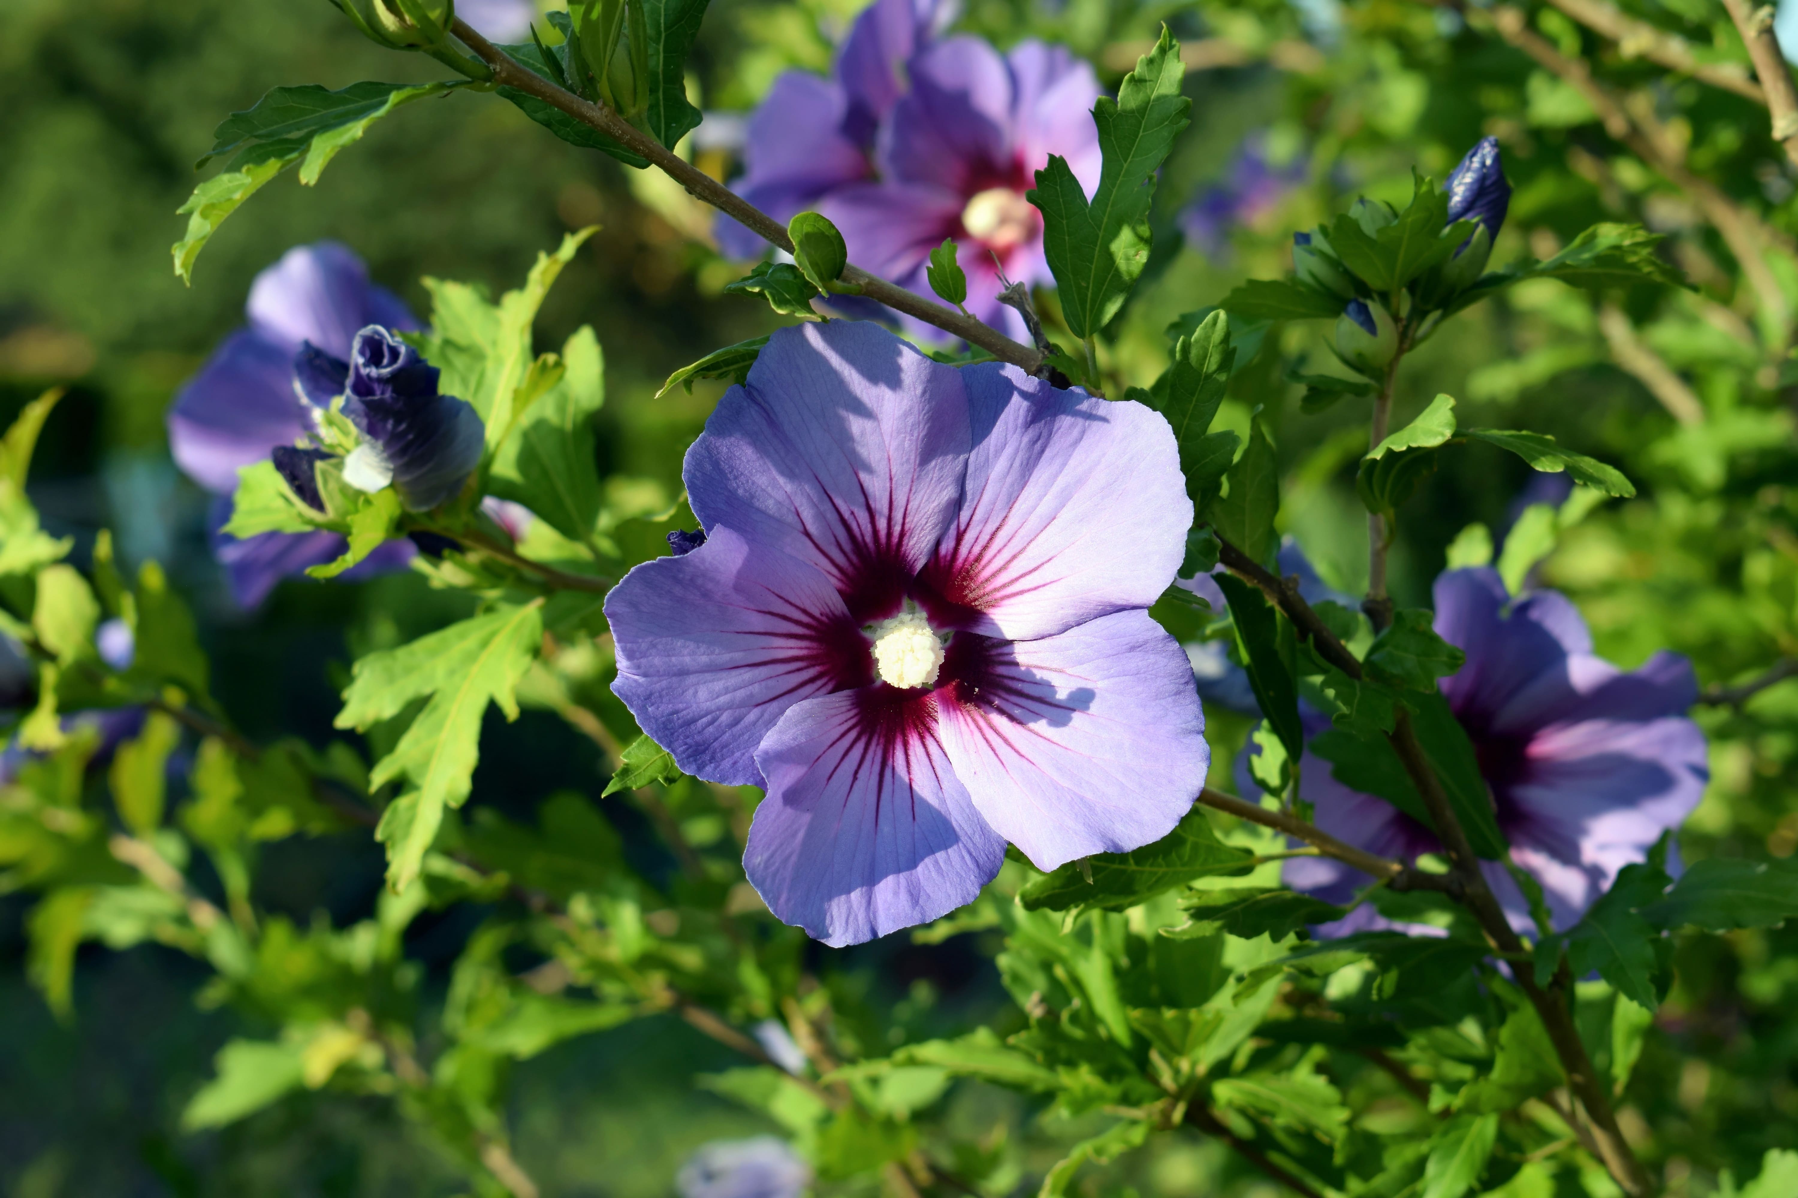
[[[264,183],[304,158],[300,183],[311,187],[345,145],[361,140],[369,126],[401,104],[467,86],[448,83],[352,83],[338,92],[318,84],[273,88],[254,108],[232,113],[212,135],[194,167],[232,154],[230,169],[194,189],[176,214],[187,216],[187,235],[174,244],[174,273],[192,282],[194,259],[218,226]]]

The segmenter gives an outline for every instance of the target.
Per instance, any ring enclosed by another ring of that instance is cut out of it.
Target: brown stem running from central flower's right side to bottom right
[[[1356,656],[1348,652],[1347,645],[1336,639],[1336,634],[1323,625],[1304,596],[1298,595],[1298,582],[1295,578],[1277,578],[1223,537],[1217,539],[1217,548],[1219,560],[1244,580],[1253,582],[1268,598],[1278,603],[1280,611],[1293,621],[1300,636],[1311,641],[1320,657],[1352,679],[1363,675]],[[1523,941],[1512,930],[1503,907],[1498,905],[1492,889],[1485,884],[1485,873],[1480,869],[1480,860],[1467,841],[1467,832],[1462,828],[1460,819],[1455,817],[1455,808],[1442,788],[1442,780],[1437,778],[1429,758],[1417,742],[1410,713],[1402,706],[1397,709],[1388,740],[1399,754],[1406,776],[1422,796],[1437,837],[1442,841],[1455,876],[1462,884],[1462,893],[1456,898],[1474,914],[1480,929],[1501,956],[1510,957],[1518,954],[1521,957],[1527,952]],[[1518,982],[1530,997],[1530,1004],[1535,1006],[1543,1026],[1548,1029],[1548,1038],[1555,1045],[1555,1054],[1561,1058],[1570,1088],[1579,1096],[1586,1106],[1586,1114],[1591,1117],[1593,1139],[1598,1144],[1598,1157],[1604,1160],[1606,1169],[1609,1169],[1611,1176],[1631,1198],[1647,1194],[1647,1173],[1624,1141],[1624,1133],[1616,1126],[1616,1112],[1611,1108],[1611,1096],[1600,1085],[1598,1074],[1586,1054],[1586,1045],[1579,1038],[1579,1029],[1573,1026],[1573,1015],[1568,1006],[1568,993],[1571,993],[1573,981],[1566,961],[1561,963],[1550,990],[1537,986],[1528,968],[1519,968],[1516,973]]]

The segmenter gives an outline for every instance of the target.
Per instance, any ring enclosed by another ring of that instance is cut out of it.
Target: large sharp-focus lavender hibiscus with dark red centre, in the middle
[[[1165,835],[1210,762],[1147,607],[1192,503],[1135,402],[872,323],[773,334],[687,453],[705,541],[606,600],[617,695],[690,774],[766,787],[744,869],[850,945]],[[1129,528],[1118,537],[1118,528]]]

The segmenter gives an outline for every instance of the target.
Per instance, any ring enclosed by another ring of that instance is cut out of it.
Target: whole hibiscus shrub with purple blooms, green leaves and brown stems
[[[237,731],[164,571],[40,523],[58,393],[13,422],[0,880],[36,896],[58,1013],[83,943],[155,941],[263,1029],[187,1132],[329,1088],[397,1103],[475,1193],[550,1193],[507,1065],[672,1013],[741,1056],[699,1083],[770,1132],[696,1151],[665,1178],[689,1196],[1126,1193],[1170,1142],[1215,1146],[1219,1193],[1793,1193],[1789,1085],[1726,1148],[1681,1114],[1712,1069],[1683,1027],[1724,1020],[1703,963],[1764,963],[1798,914],[1798,835],[1724,851],[1726,819],[1694,817],[1757,771],[1791,781],[1798,151],[1758,16],[1731,0],[1699,56],[1687,9],[1557,4],[1544,38],[1505,5],[1206,4],[1165,13],[1185,47],[1129,5],[1099,41],[1079,5],[1037,14],[1095,68],[996,48],[994,5],[876,0],[831,74],[773,79],[723,183],[692,151],[705,0],[336,4],[448,77],[230,115],[182,277],[270,180],[318,183],[412,101],[511,102],[716,208],[694,260],[735,264],[714,289],[768,332],[667,381],[721,393],[681,498],[633,507],[601,469],[604,330],[534,338],[606,232],[498,298],[428,280],[417,314],[338,242],[259,275],[167,417],[236,602],[390,571],[442,598],[430,630],[358,645],[329,744]],[[1192,196],[1194,97],[1221,93],[1188,65],[1255,57],[1304,115]],[[1363,59],[1392,88],[1332,108],[1323,81]],[[1455,72],[1527,79],[1456,97],[1491,133],[1449,171],[1417,113],[1401,137],[1379,110],[1424,70],[1444,104]],[[1309,162],[1275,147],[1295,131]],[[1724,163],[1744,144],[1757,190]],[[1224,286],[1197,264],[1232,230],[1266,244]],[[1268,246],[1289,271],[1257,269]],[[1537,329],[1469,372],[1442,347],[1498,336],[1494,311],[1575,341]],[[1462,422],[1602,361],[1640,381],[1640,427]],[[1496,533],[1437,526],[1464,476],[1525,480]],[[1713,573],[1658,575],[1679,544]],[[502,814],[475,785],[489,706],[559,715],[610,781]],[[378,841],[387,885],[302,930],[266,909],[259,846],[325,833]],[[406,934],[451,909],[475,930],[439,995]],[[964,938],[1009,1002],[921,1031],[867,997],[870,957],[825,950],[879,938]]]

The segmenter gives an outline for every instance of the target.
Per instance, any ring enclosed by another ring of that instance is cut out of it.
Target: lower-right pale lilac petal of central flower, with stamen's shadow
[[[944,749],[975,808],[1039,869],[1160,841],[1205,787],[1192,666],[1147,612],[1010,645],[958,632],[949,652]]]

